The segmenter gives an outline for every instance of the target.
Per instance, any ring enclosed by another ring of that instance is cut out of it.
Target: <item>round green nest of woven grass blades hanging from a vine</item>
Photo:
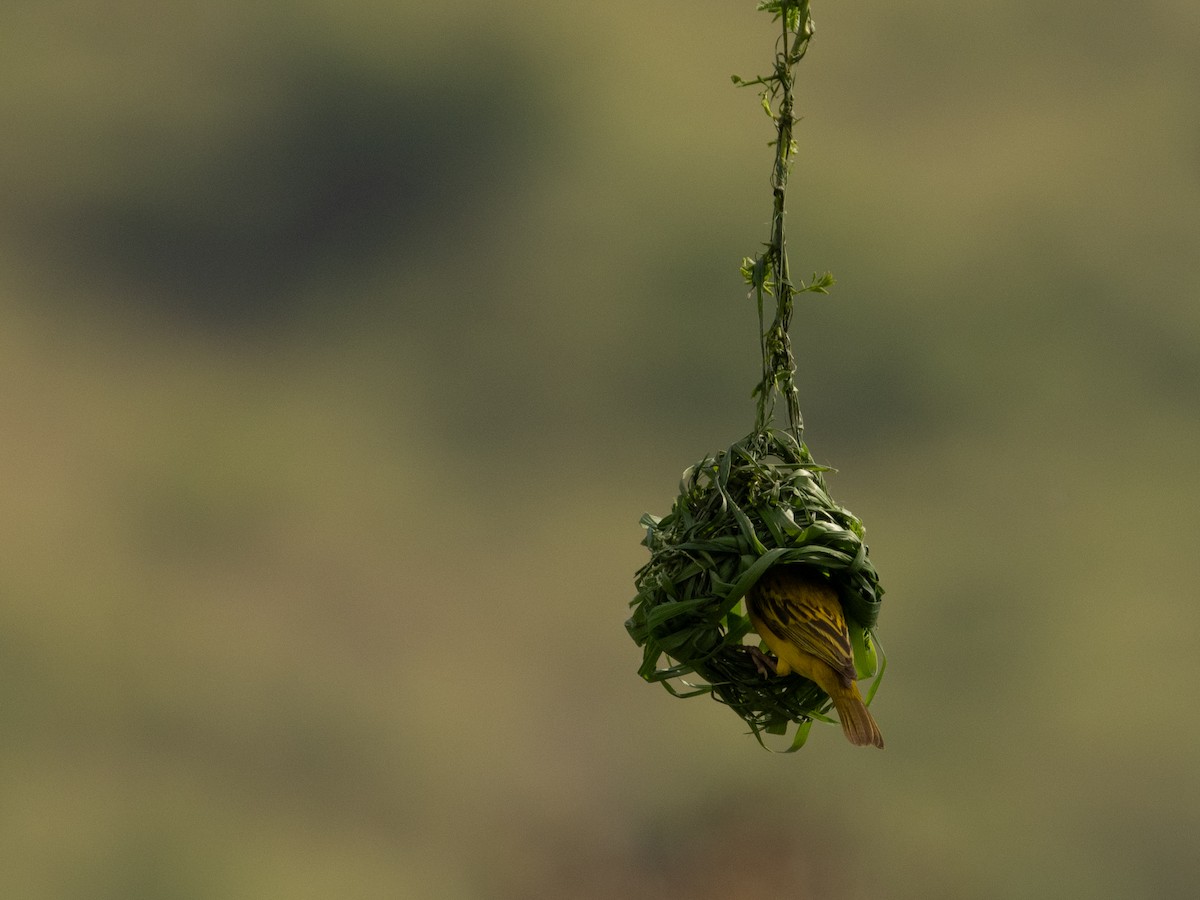
[[[743,641],[752,626],[739,601],[770,566],[803,564],[828,575],[869,646],[883,596],[863,524],[829,497],[827,470],[792,433],[763,428],[684,472],[671,514],[642,517],[650,560],[637,572],[625,623],[643,648],[642,678],[680,697],[710,694],[760,742],[798,722],[792,749],[814,718],[826,719],[829,698],[800,676],[760,671]],[[702,680],[679,690],[674,682],[689,676]]]

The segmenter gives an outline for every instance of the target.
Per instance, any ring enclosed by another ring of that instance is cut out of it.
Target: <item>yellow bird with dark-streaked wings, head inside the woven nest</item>
[[[828,694],[851,744],[883,746],[880,726],[858,692],[846,614],[828,578],[804,566],[776,565],[750,588],[746,612],[778,656],[774,666],[767,660],[776,674],[796,672]]]

